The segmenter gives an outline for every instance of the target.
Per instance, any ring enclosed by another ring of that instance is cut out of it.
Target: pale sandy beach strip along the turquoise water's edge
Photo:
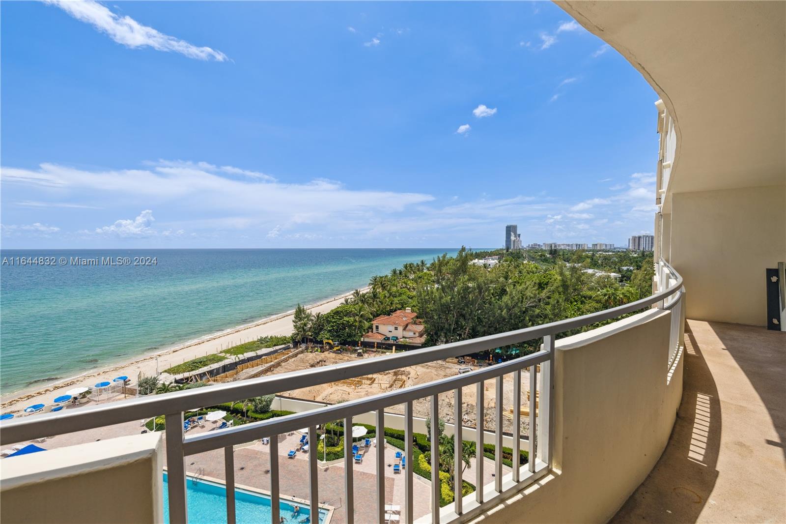
[[[365,291],[365,289],[363,290]],[[350,297],[352,292],[344,293],[340,297],[334,297],[327,301],[308,306],[312,313],[329,312],[332,308],[340,305],[343,299]],[[100,380],[112,380],[112,378],[126,375],[131,379],[131,384],[136,384],[136,379],[142,375],[156,375],[156,360],[159,371],[167,367],[191,360],[197,356],[204,356],[209,353],[219,352],[233,345],[238,345],[255,338],[282,335],[292,333],[292,315],[294,310],[281,313],[280,315],[266,317],[254,323],[235,327],[231,330],[224,330],[219,333],[210,334],[202,338],[185,342],[170,349],[160,352],[140,356],[136,360],[126,363],[119,363],[112,367],[105,367],[87,371],[83,375],[55,382],[46,386],[32,386],[15,393],[2,397],[2,411],[4,413],[17,413],[24,410],[31,404],[51,404],[52,400],[58,395],[64,394],[68,389],[78,386],[92,387]]]

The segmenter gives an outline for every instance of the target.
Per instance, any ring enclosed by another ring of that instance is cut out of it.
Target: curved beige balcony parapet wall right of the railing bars
[[[682,359],[667,370],[670,312],[556,342],[553,474],[484,514],[494,524],[608,522],[667,445]]]

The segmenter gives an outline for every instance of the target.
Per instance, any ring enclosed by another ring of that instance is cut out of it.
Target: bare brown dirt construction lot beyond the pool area
[[[375,352],[366,352],[363,358],[384,358],[384,355]],[[329,366],[332,364],[343,362],[355,362],[358,360],[357,356],[349,354],[333,354],[333,353],[303,353],[293,360],[288,360],[281,363],[274,370],[269,371],[266,375],[273,375],[278,373],[286,373],[288,371],[301,371],[310,367]],[[282,391],[281,395],[285,397],[295,397],[305,400],[318,400],[328,404],[336,404],[339,402],[346,402],[347,400],[355,400],[363,397],[370,397],[379,393],[400,389],[402,387],[416,386],[427,382],[433,382],[440,378],[452,377],[457,374],[460,366],[457,363],[447,363],[446,361],[439,361],[435,363],[419,364],[417,366],[410,366],[395,371],[387,371],[373,375],[373,377],[363,378],[352,384],[347,382],[333,382],[328,385],[314,386],[310,388],[290,389]],[[473,369],[478,369],[473,367]],[[497,407],[496,392],[494,380],[485,382],[485,393],[483,394],[484,410],[484,424],[488,430],[493,430],[496,423],[496,413],[494,412]],[[527,394],[525,389],[529,385],[529,373],[523,371],[521,374],[522,382],[522,407],[527,407]],[[463,423],[465,426],[475,426],[476,424],[476,386],[467,386],[462,389],[462,414]],[[507,414],[511,414],[513,405],[513,378],[512,375],[505,375],[503,381],[503,404],[502,409]],[[430,411],[431,400],[428,398],[416,400],[413,404],[414,414],[420,417],[427,417]],[[404,406],[390,406],[386,411],[393,413],[403,413]],[[439,395],[439,416],[448,423],[454,422],[454,393],[443,393]],[[527,417],[522,416],[522,434],[527,434],[529,424]],[[502,427],[505,432],[512,432],[512,416],[502,417]]]

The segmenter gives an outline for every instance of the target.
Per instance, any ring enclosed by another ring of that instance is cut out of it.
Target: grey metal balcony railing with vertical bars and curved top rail
[[[462,496],[463,464],[460,459],[454,460],[455,464],[455,496],[452,508],[443,509],[440,513],[440,482],[439,482],[439,434],[438,424],[431,425],[432,448],[432,485],[431,485],[431,520],[439,523],[462,522],[479,514],[480,511],[494,506],[512,493],[516,493],[531,485],[538,478],[549,472],[553,465],[553,436],[554,436],[554,364],[555,364],[555,338],[557,334],[568,330],[586,327],[595,323],[615,319],[629,313],[648,308],[653,304],[663,309],[671,309],[672,328],[670,344],[672,348],[678,347],[681,337],[681,312],[682,308],[682,279],[673,268],[661,260],[656,268],[656,293],[650,297],[625,304],[617,308],[607,309],[602,312],[580,316],[574,319],[561,320],[560,322],[528,327],[506,333],[495,334],[488,337],[454,342],[439,345],[430,349],[418,349],[410,352],[386,356],[384,358],[366,359],[358,362],[343,363],[335,366],[316,367],[307,371],[297,371],[281,375],[272,375],[253,378],[240,382],[227,383],[208,388],[189,389],[165,395],[130,400],[121,404],[107,404],[94,408],[85,408],[63,414],[37,415],[19,421],[6,423],[0,433],[0,445],[19,441],[28,441],[36,437],[54,434],[66,434],[73,431],[88,430],[101,426],[129,422],[138,419],[149,419],[162,413],[166,415],[166,453],[169,489],[169,515],[171,522],[186,522],[186,476],[185,456],[196,453],[208,452],[223,448],[225,451],[226,468],[226,514],[227,522],[235,522],[234,500],[234,467],[233,446],[254,441],[263,437],[270,438],[270,498],[272,521],[279,522],[279,474],[278,464],[278,435],[296,431],[299,428],[308,428],[308,437],[311,443],[318,442],[317,426],[343,419],[344,427],[351,428],[352,418],[357,415],[373,412],[376,414],[376,435],[381,441],[384,438],[384,408],[404,404],[404,432],[407,467],[403,470],[405,482],[405,504],[402,517],[406,522],[413,522],[413,401],[429,398],[431,400],[431,419],[439,419],[438,397],[440,393],[454,393],[455,405],[455,450],[454,456],[461,457],[462,444],[462,402],[461,389],[465,386],[476,386],[476,450],[478,453],[475,467],[476,491],[472,495]],[[392,371],[415,364],[429,363],[445,360],[450,357],[464,356],[475,352],[487,351],[500,346],[520,344],[525,341],[542,339],[541,348],[531,355],[520,357],[516,360],[496,364],[490,367],[472,371],[465,375],[444,378],[439,381],[429,382],[394,392],[382,393],[373,397],[365,397],[342,404],[326,406],[324,408],[305,411],[295,415],[288,415],[277,419],[268,419],[257,423],[248,423],[243,426],[227,430],[211,431],[204,434],[186,436],[183,431],[183,413],[193,406],[211,406],[232,402],[238,399],[259,397],[262,395],[279,393],[288,389],[307,388],[336,382],[347,378],[357,378],[363,375],[372,375],[384,371]],[[673,358],[674,352],[670,358]],[[538,364],[540,371],[538,371]],[[523,437],[521,435],[521,371],[529,370],[528,384],[531,408],[529,410],[529,435],[526,446],[529,450],[529,462],[519,466],[516,457],[520,454]],[[540,373],[540,398],[539,406],[535,399],[538,398],[538,380]],[[502,393],[503,378],[512,375],[513,379],[513,406],[512,406],[512,456],[513,467],[511,474],[503,474],[502,464]],[[496,384],[496,424],[494,427],[494,482],[485,486],[483,483],[483,382],[494,379]],[[346,508],[346,521],[354,522],[354,489],[353,489],[353,455],[351,453],[351,440],[344,439],[344,500]],[[308,454],[309,463],[309,501],[310,522],[318,521],[319,511],[319,485],[317,480],[318,453],[317,446],[311,445]],[[384,494],[384,445],[376,446],[376,518],[378,522],[385,522]]]

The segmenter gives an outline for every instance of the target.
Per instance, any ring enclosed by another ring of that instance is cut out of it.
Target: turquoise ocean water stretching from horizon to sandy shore
[[[3,249],[66,257],[0,266],[0,393],[69,378],[313,304],[406,262],[455,249]],[[74,256],[148,256],[149,266],[77,266]]]

